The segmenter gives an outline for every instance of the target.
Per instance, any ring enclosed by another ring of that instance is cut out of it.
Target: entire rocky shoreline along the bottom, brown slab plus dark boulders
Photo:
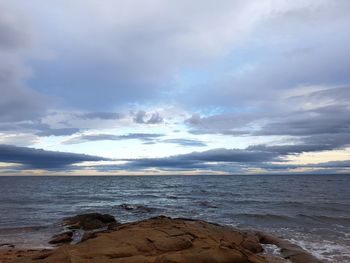
[[[76,244],[70,244],[73,232],[66,231],[53,237],[57,247],[52,250],[0,247],[0,263],[70,262],[73,254],[74,262],[208,262],[208,257],[218,263],[321,262],[301,247],[263,232],[165,216],[119,224],[108,216],[91,213],[64,220],[66,230],[84,229]]]

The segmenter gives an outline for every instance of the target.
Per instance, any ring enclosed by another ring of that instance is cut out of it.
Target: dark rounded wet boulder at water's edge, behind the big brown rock
[[[88,213],[69,217],[64,220],[69,229],[94,230],[117,224],[115,218],[108,214]]]

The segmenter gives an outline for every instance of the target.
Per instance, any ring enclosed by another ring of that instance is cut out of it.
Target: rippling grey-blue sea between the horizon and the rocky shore
[[[0,244],[47,247],[62,218],[167,215],[277,234],[350,262],[350,176],[0,177]]]

